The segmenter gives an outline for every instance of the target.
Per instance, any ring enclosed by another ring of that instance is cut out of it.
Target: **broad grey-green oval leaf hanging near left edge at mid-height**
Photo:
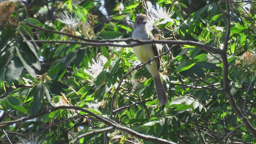
[[[7,66],[7,70],[5,71],[4,79],[6,82],[11,83],[17,78],[19,78],[20,74],[22,73],[23,65],[20,62],[19,58],[15,56],[10,64]]]

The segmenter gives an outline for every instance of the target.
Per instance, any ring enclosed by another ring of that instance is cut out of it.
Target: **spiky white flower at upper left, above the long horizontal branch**
[[[74,30],[76,30],[80,19],[81,18],[76,15],[72,17],[70,14],[68,14],[67,11],[60,13],[60,18],[56,18],[56,20],[59,20],[63,24],[66,24],[69,29],[73,28]]]

